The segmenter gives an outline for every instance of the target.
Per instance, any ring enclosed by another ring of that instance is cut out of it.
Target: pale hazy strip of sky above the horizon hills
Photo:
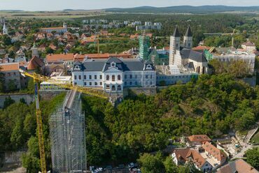
[[[259,6],[259,0],[0,0],[0,10],[100,9],[181,5]]]

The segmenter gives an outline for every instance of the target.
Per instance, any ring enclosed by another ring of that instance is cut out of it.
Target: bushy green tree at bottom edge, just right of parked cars
[[[162,153],[158,152],[155,156],[150,153],[144,153],[138,159],[141,165],[141,172],[144,173],[162,173],[165,172],[165,166],[162,163]]]

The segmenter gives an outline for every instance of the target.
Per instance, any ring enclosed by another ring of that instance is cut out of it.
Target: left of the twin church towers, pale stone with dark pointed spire
[[[174,65],[174,55],[176,50],[180,50],[181,34],[178,27],[174,29],[173,36],[170,37],[169,65]]]

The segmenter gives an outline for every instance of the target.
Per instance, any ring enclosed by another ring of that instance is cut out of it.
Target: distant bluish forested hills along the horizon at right
[[[259,10],[259,6],[168,6],[168,7],[153,7],[140,6],[135,8],[107,8],[107,12],[121,13],[219,13],[231,11],[247,11],[254,12]]]

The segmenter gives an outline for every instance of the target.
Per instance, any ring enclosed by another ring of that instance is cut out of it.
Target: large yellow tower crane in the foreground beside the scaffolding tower
[[[64,84],[61,81],[53,80],[50,77],[46,77],[44,75],[38,75],[37,73],[27,73],[25,70],[20,69],[20,73],[24,76],[32,77],[34,79],[34,96],[36,102],[36,121],[37,121],[37,129],[38,129],[38,146],[40,151],[41,157],[41,172],[47,173],[46,170],[46,163],[45,163],[45,150],[44,150],[44,140],[43,140],[43,126],[42,126],[42,117],[41,117],[41,110],[39,107],[39,100],[38,100],[38,82],[50,82],[55,84],[59,87],[64,89],[71,89],[75,91],[79,91],[81,93],[86,93],[90,96],[96,96],[99,98],[108,98],[105,93],[98,91],[97,89],[93,88],[84,88],[79,86],[73,86],[71,83]]]

